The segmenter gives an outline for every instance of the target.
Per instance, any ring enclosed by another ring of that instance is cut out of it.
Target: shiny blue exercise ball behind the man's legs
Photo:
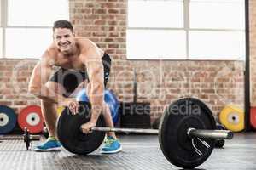
[[[77,101],[89,102],[86,90],[82,89],[81,91],[79,91],[79,93],[76,95],[76,99]],[[119,121],[119,100],[116,98],[111,90],[105,89],[104,101],[108,104],[111,111],[113,124],[116,124]]]

